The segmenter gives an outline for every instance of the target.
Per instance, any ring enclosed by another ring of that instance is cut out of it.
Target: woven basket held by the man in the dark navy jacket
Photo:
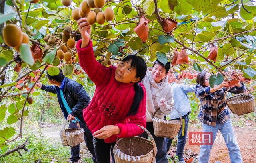
[[[65,129],[67,122],[68,120],[64,124],[62,130],[60,131],[60,139],[61,139],[62,145],[74,147],[84,141],[84,129],[80,128],[80,124],[77,120],[76,120],[77,128]]]

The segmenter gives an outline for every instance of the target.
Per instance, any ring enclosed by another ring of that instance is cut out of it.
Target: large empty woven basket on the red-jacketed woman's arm
[[[138,126],[149,135],[150,140],[135,136],[116,141],[113,148],[116,163],[154,163],[157,152],[154,138],[146,128]]]

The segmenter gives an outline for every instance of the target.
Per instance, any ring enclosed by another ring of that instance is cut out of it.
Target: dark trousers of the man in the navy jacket
[[[85,141],[86,147],[92,154],[92,160],[96,163],[95,153],[94,153],[94,148],[93,148],[93,141],[92,141],[92,139],[93,139],[92,133],[86,126],[85,122],[80,121],[79,124],[80,124],[80,127],[84,129],[84,141]],[[77,124],[71,121],[68,128],[77,128]],[[71,147],[71,156],[72,157],[70,158],[70,161],[80,160],[81,157],[79,156],[79,153],[80,153],[80,144],[76,145],[75,147]]]

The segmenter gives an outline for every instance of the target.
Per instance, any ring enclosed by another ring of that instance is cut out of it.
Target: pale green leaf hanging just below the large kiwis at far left
[[[30,47],[26,43],[22,43],[20,45],[20,57],[25,63],[27,63],[30,66],[33,66],[35,63]]]

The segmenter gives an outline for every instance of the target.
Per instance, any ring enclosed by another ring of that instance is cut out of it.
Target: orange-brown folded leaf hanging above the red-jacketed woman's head
[[[143,43],[145,43],[148,38],[148,31],[149,31],[148,23],[149,22],[150,22],[150,20],[145,18],[145,16],[142,16],[140,18],[140,24],[136,28],[134,28],[134,32],[138,35],[138,37],[140,37],[140,39],[142,40]]]

